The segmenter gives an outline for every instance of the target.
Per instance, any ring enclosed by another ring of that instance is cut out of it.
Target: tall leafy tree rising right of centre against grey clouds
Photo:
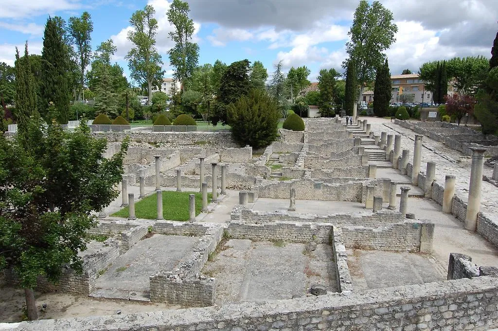
[[[394,34],[398,28],[392,20],[392,12],[379,1],[369,4],[367,0],[361,0],[356,8],[353,25],[348,32],[351,41],[346,43],[349,58],[343,62],[343,67],[347,68],[349,60],[355,61],[360,83],[358,102],[365,87],[373,82],[376,68],[384,63],[384,51],[396,40]]]

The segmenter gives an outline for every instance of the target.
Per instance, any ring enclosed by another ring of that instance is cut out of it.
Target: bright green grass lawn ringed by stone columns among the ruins
[[[202,195],[199,192],[162,191],[162,211],[165,220],[189,220],[189,195],[195,194],[195,216],[201,213]],[[213,195],[208,193],[208,203]],[[135,203],[135,216],[138,219],[155,220],[157,218],[157,198],[154,193]],[[111,216],[128,217],[128,207],[123,208]]]

